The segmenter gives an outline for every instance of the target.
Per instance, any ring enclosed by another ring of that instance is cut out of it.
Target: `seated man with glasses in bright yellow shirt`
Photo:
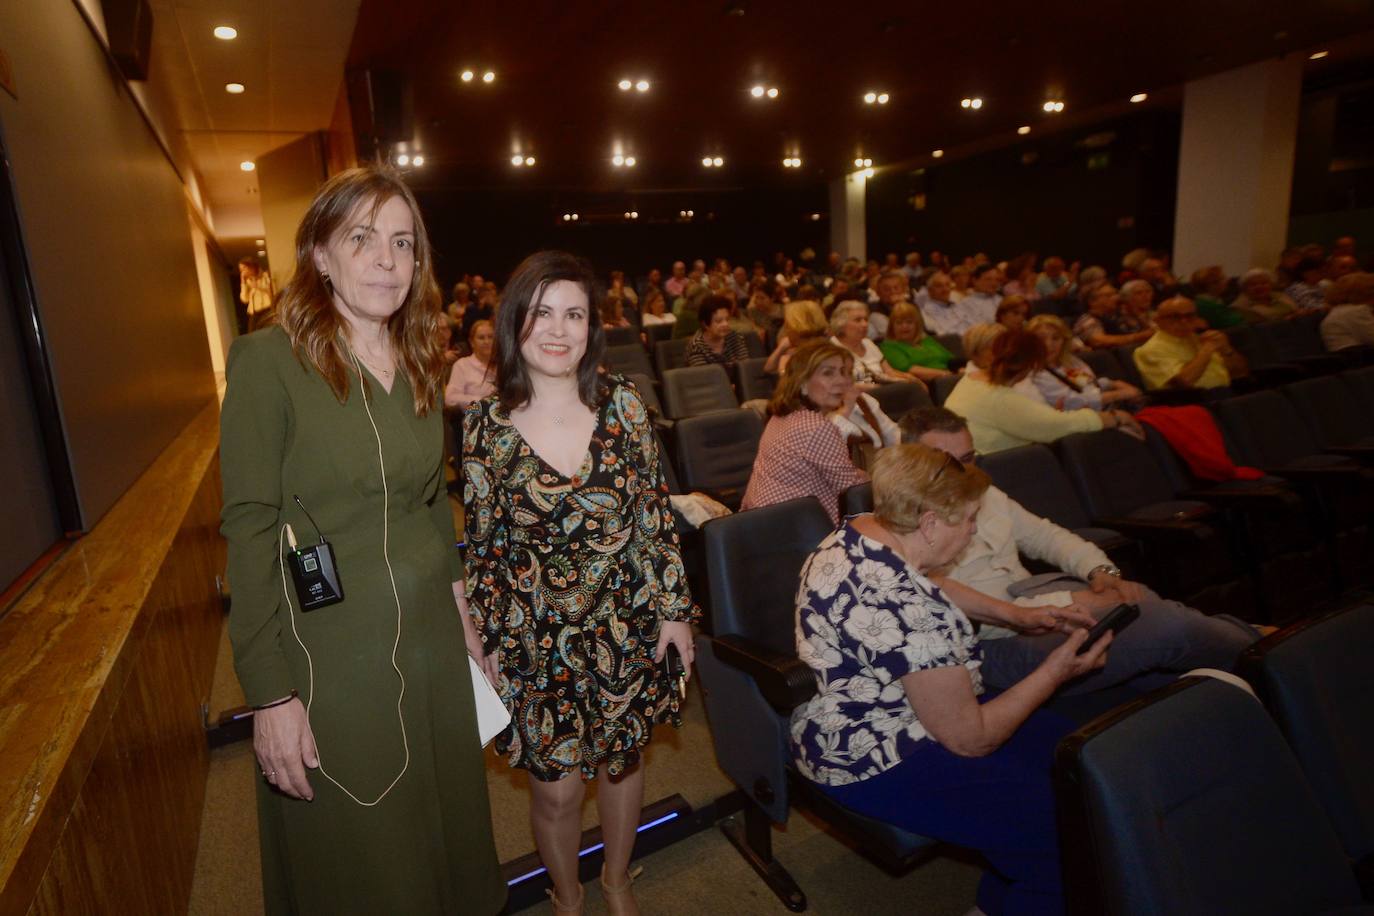
[[[1146,389],[1217,389],[1249,374],[1245,357],[1226,334],[1206,330],[1193,299],[1167,299],[1154,323],[1158,330],[1135,350]]]

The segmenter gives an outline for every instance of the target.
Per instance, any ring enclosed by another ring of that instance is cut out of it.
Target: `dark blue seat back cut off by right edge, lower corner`
[[[1374,900],[1374,606],[1275,633],[1241,656]]]

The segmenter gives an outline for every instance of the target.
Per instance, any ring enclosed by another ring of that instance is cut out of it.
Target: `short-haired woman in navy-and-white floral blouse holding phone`
[[[1050,761],[1073,724],[1037,707],[1101,667],[1110,634],[1076,655],[1087,614],[1018,618],[1069,637],[985,694],[973,625],[927,575],[969,545],[987,474],[915,444],[878,452],[871,474],[874,512],[845,519],[801,570],[797,652],[819,689],[793,713],[797,768],[845,808],[980,850],[996,869],[984,913],[1061,913]]]

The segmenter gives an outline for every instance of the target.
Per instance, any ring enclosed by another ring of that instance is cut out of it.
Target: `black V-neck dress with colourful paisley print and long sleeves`
[[[583,466],[563,477],[496,397],[463,417],[469,604],[499,652],[511,725],[496,750],[551,781],[635,765],[655,724],[680,725],[654,663],[660,621],[691,621],[668,485],[643,400],[609,376]]]

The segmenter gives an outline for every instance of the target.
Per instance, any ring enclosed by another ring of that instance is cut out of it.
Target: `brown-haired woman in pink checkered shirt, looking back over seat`
[[[742,509],[815,496],[830,520],[840,522],[840,493],[868,479],[849,460],[840,427],[830,420],[852,398],[852,367],[853,356],[824,339],[808,341],[791,354],[768,402],[768,426]]]

